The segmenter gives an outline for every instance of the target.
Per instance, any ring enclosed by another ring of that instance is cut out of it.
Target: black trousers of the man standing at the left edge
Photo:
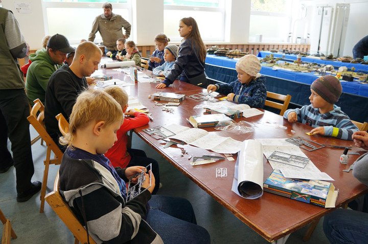
[[[7,148],[11,142],[16,172],[16,190],[25,192],[32,187],[34,173],[31,138],[29,132],[29,102],[23,89],[0,90],[0,168],[11,161]]]

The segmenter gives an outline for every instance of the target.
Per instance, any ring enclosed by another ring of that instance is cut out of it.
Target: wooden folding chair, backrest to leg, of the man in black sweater
[[[43,161],[45,168],[43,171],[42,187],[41,187],[41,194],[40,194],[40,200],[41,200],[40,213],[43,213],[44,196],[46,194],[49,166],[50,164],[55,164],[55,165],[60,164],[61,158],[63,155],[62,151],[59,149],[59,147],[56,145],[56,143],[53,141],[53,139],[50,137],[50,135],[46,131],[46,128],[44,126],[44,111],[43,110],[41,111],[42,107],[43,107],[43,104],[41,103],[40,100],[38,100],[35,103],[35,105],[33,105],[32,107],[31,115],[27,117],[28,121],[36,129],[38,134],[41,136],[41,138],[47,145],[46,159]],[[54,152],[53,159],[51,159],[51,151]]]

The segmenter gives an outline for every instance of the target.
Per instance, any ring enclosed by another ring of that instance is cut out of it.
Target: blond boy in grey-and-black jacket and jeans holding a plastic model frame
[[[126,202],[126,181],[144,167],[114,168],[103,154],[118,140],[123,116],[107,93],[82,92],[61,139],[68,148],[59,169],[60,194],[87,234],[97,243],[210,243],[186,199],[151,195],[155,179],[149,172],[141,185],[146,190]]]

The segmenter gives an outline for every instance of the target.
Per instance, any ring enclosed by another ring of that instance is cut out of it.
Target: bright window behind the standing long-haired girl
[[[178,29],[184,17],[197,21],[203,41],[224,41],[224,0],[164,0],[164,32],[171,41],[182,39]]]

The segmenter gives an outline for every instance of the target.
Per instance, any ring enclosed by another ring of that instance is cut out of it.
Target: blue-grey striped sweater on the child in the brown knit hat
[[[325,136],[336,137],[343,140],[352,140],[352,135],[358,131],[350,120],[349,116],[343,113],[340,107],[334,105],[334,109],[325,114],[319,114],[319,109],[314,108],[311,104],[305,105],[302,108],[288,109],[285,111],[284,118],[290,112],[295,112],[297,121],[303,124],[317,128],[324,126]]]

